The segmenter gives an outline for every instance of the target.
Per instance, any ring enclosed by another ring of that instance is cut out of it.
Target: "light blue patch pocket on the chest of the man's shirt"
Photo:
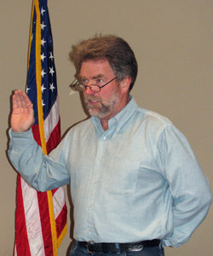
[[[106,188],[113,195],[135,193],[140,161],[114,157],[107,170]]]

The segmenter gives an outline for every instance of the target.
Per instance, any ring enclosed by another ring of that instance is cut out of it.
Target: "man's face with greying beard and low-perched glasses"
[[[106,84],[116,75],[109,62],[83,61],[80,70],[80,79],[84,84]],[[83,91],[83,98],[90,115],[101,120],[108,120],[120,112],[126,105],[127,94],[124,93],[122,81],[116,79],[107,84],[100,92],[94,92],[89,87]]]

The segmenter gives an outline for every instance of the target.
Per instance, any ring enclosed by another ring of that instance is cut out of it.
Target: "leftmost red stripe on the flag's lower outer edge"
[[[26,218],[22,197],[20,174],[17,177],[16,186],[16,210],[15,210],[15,244],[17,255],[30,256],[30,246],[26,232]]]

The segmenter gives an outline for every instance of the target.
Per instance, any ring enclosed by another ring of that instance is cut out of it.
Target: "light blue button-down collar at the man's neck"
[[[123,126],[130,119],[132,114],[135,112],[136,108],[138,108],[137,103],[135,102],[133,96],[130,96],[130,102],[125,106],[125,108],[123,108],[119,113],[117,113],[117,115],[115,115],[112,119],[109,119],[108,130],[112,129],[112,127],[115,127],[114,125],[116,125],[116,131],[122,132]],[[92,116],[91,121],[98,130],[98,133],[100,134],[101,132],[102,134],[104,130],[101,125],[101,119]]]

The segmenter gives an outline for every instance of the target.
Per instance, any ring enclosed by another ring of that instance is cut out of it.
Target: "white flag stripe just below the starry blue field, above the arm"
[[[57,96],[56,101],[49,112],[49,115],[44,120],[44,136],[45,136],[46,142],[48,142],[49,136],[51,132],[54,130],[55,126],[58,124],[58,122],[59,122],[59,100]]]

